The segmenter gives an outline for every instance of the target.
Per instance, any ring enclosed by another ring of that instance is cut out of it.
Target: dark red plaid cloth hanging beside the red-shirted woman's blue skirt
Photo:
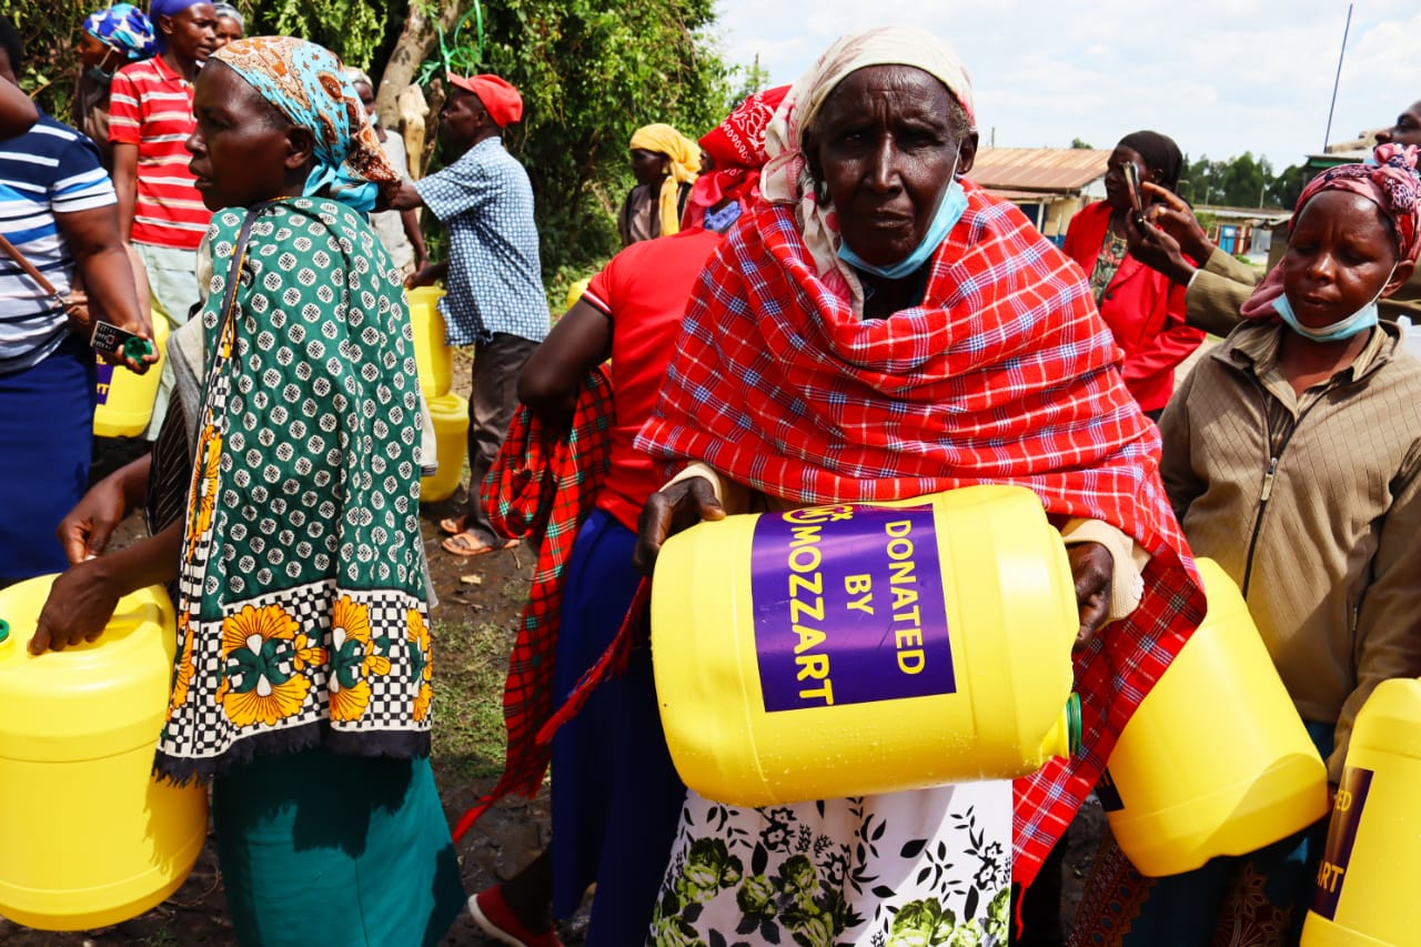
[[[487,796],[463,813],[455,839],[503,796],[534,796],[543,785],[550,749],[537,742],[537,734],[553,714],[563,570],[607,475],[611,424],[611,381],[604,368],[597,368],[583,381],[567,432],[544,428],[531,411],[520,408],[480,485],[483,508],[496,530],[509,539],[541,535],[543,545],[503,685],[509,734],[503,775]]]

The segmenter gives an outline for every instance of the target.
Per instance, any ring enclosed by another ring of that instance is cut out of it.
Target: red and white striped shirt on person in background
[[[138,145],[135,243],[196,250],[212,212],[188,171],[188,137],[196,127],[192,82],[161,55],[125,65],[114,75],[108,139]]]

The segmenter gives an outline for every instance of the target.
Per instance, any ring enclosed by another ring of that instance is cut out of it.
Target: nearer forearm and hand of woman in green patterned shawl
[[[63,651],[82,641],[97,641],[118,600],[146,586],[178,576],[183,523],[111,556],[90,559],[54,580],[50,597],[36,621],[30,654]]]

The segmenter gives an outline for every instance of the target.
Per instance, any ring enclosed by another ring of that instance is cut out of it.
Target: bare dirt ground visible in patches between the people
[[[462,353],[460,353],[462,355]],[[460,380],[463,394],[468,394],[468,357],[456,360],[455,378]],[[460,388],[456,382],[456,391]],[[97,451],[94,479],[107,475],[122,464],[134,459],[141,445],[129,442],[102,441]],[[523,590],[533,576],[533,555],[529,550],[500,552],[480,556],[475,560],[458,559],[439,549],[438,522],[443,516],[456,515],[462,506],[463,491],[442,503],[422,509],[425,547],[429,553],[429,569],[439,604],[433,610],[433,624],[438,631],[445,621],[492,623],[507,628],[509,646],[517,627]],[[115,535],[114,547],[121,547],[141,536],[142,523],[138,516],[129,516]],[[480,576],[479,583],[462,582],[465,576]],[[439,643],[435,641],[436,677]],[[502,700],[502,691],[485,695],[487,701]],[[450,825],[493,786],[493,778],[450,785],[450,779],[435,764],[445,813]],[[1104,830],[1104,816],[1098,805],[1088,805],[1067,835],[1066,870],[1063,877],[1063,920],[1069,923],[1080,900],[1081,886],[1090,870],[1090,860]],[[480,892],[499,879],[516,873],[533,859],[550,839],[550,818],[547,792],[533,801],[506,799],[487,812],[479,825],[459,842],[459,860],[465,890]],[[583,911],[560,926],[567,944],[581,944],[587,924],[587,904]],[[45,933],[20,927],[0,917],[0,944],[6,947],[186,947],[188,944],[223,946],[234,943],[232,924],[227,920],[226,901],[222,892],[222,877],[217,872],[216,853],[209,838],[196,867],[188,882],[166,901],[148,913],[114,927],[75,933]],[[496,947],[473,924],[468,913],[455,921],[445,936],[442,947]]]

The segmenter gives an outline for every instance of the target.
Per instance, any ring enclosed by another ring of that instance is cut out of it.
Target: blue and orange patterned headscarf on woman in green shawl
[[[288,36],[261,36],[229,43],[212,58],[315,137],[304,196],[328,196],[369,212],[379,193],[388,199],[399,189],[399,175],[334,53]]]

